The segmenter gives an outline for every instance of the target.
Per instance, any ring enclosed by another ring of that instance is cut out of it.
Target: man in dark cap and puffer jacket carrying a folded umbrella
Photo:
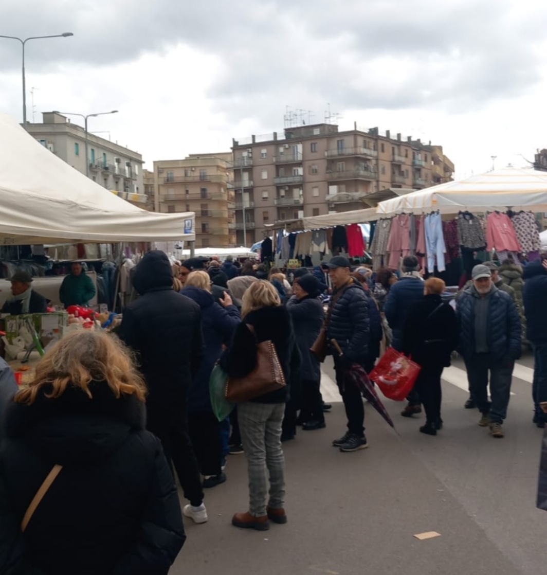
[[[328,263],[334,292],[328,312],[327,339],[331,343],[336,340],[342,350],[340,355],[336,346],[331,345],[336,382],[348,417],[348,432],[333,442],[341,451],[357,451],[368,447],[363,427],[363,398],[357,388],[344,385],[345,372],[352,363],[367,363],[370,339],[368,297],[359,283],[350,277],[350,265],[349,260],[343,256],[336,256]]]

